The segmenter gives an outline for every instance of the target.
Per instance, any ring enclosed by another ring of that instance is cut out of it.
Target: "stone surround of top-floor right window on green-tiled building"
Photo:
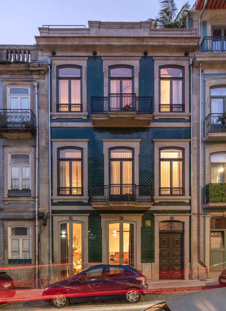
[[[189,60],[188,58],[184,57],[154,57],[154,77],[156,78],[155,81],[155,106],[154,106],[154,117],[156,120],[159,118],[184,118],[185,120],[188,120],[190,117],[189,112]],[[160,79],[159,79],[159,67],[184,67],[184,98],[185,98],[185,112],[159,112],[159,104],[160,104],[160,98],[159,98],[159,87],[160,87]]]

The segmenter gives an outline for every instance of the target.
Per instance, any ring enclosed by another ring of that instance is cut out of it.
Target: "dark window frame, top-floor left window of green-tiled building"
[[[67,77],[67,76],[60,76],[59,75],[59,72],[60,72],[60,69],[64,69],[64,68],[71,68],[71,69],[79,69],[80,70],[80,76],[79,77]],[[60,110],[59,109],[59,106],[57,108],[57,105],[60,105],[59,103],[59,90],[60,90],[60,87],[59,87],[59,80],[67,80],[68,81],[68,101],[69,103],[68,104],[62,104],[62,105],[68,105],[68,110]],[[71,80],[79,80],[80,81],[80,104],[72,104],[71,103]],[[62,113],[62,112],[66,112],[66,113],[79,113],[79,112],[83,112],[83,73],[82,73],[82,66],[79,66],[79,65],[59,65],[56,67],[56,83],[57,83],[57,87],[56,87],[56,90],[57,90],[57,94],[56,94],[56,100],[57,100],[57,103],[56,103],[56,111],[59,112],[59,113]],[[80,110],[71,110],[71,106],[70,105],[80,105]]]

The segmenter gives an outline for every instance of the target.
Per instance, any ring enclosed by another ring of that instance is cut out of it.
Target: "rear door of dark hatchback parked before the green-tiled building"
[[[109,266],[101,282],[102,295],[119,295],[128,287],[127,274],[124,267]]]

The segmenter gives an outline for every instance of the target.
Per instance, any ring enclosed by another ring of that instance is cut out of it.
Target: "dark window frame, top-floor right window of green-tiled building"
[[[161,77],[161,69],[180,69],[182,72],[182,77]],[[169,104],[163,104],[164,106],[169,106],[170,110],[169,111],[161,111],[161,81],[164,80],[170,80],[170,103]],[[172,84],[173,81],[182,81],[182,90],[181,90],[181,104],[174,104],[173,103],[173,92],[172,92]],[[173,111],[174,106],[181,106],[181,111]],[[158,112],[164,113],[164,112],[172,112],[172,113],[178,113],[178,112],[185,112],[185,68],[184,66],[179,66],[179,65],[162,65],[159,66],[159,109]]]

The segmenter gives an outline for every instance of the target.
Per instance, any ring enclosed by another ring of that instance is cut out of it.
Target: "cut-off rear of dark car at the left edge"
[[[0,272],[0,303],[9,301],[15,294],[13,279],[6,272]]]

